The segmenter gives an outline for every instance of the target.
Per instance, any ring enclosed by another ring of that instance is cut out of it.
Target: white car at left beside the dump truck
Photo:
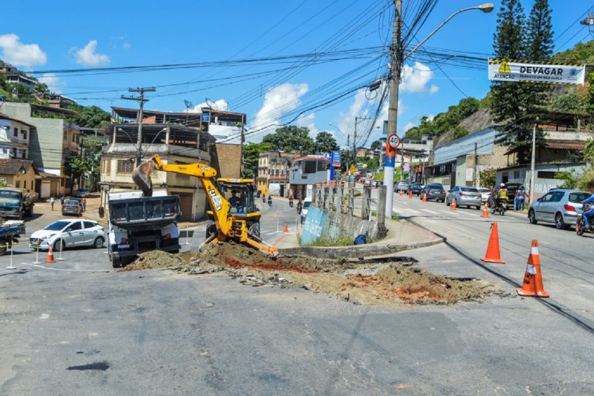
[[[100,249],[105,243],[103,226],[97,221],[64,219],[54,221],[42,230],[31,234],[29,247],[31,249],[49,249],[60,251],[74,246],[93,246]]]

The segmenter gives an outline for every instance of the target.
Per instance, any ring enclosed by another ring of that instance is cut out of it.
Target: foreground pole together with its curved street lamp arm
[[[477,5],[475,7],[467,7],[459,9],[458,11],[451,14],[445,21],[443,21],[440,26],[435,28],[425,39],[423,39],[416,47],[414,47],[410,52],[408,52],[405,56],[400,55],[401,45],[400,42],[400,27],[402,26],[402,0],[395,0],[396,1],[396,12],[394,14],[394,31],[392,34],[392,45],[390,46],[391,52],[391,62],[390,62],[390,101],[388,104],[388,128],[387,134],[388,139],[390,140],[391,135],[396,135],[397,129],[397,119],[398,119],[398,84],[400,83],[400,69],[402,68],[402,63],[406,58],[410,55],[415,53],[416,50],[419,49],[428,39],[429,37],[433,36],[440,28],[442,28],[451,18],[455,17],[456,15],[460,14],[461,12],[470,11],[471,9],[479,9],[482,12],[491,12],[495,8],[492,3],[485,3],[482,5]],[[394,161],[391,160],[393,157],[388,156],[386,157],[386,163],[384,166],[384,185],[387,187],[387,191],[389,194],[386,196],[386,214],[387,216],[391,217],[392,214],[392,205],[393,205],[393,198],[394,198]],[[388,161],[390,159],[390,161]]]

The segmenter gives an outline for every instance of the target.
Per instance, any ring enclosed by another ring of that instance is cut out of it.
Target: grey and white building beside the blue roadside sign
[[[311,186],[326,183],[330,178],[330,159],[324,159],[323,154],[308,154],[296,157],[290,169],[290,189],[295,199],[307,197]],[[309,188],[308,188],[309,186]]]

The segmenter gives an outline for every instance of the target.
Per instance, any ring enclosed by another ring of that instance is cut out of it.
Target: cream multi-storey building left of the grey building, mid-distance
[[[289,171],[297,153],[264,151],[258,160],[256,183],[261,194],[289,197]]]

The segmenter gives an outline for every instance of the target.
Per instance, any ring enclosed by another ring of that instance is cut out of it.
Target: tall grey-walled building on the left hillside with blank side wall
[[[36,189],[40,197],[48,197],[50,193],[70,194],[77,190],[79,180],[72,180],[66,175],[64,166],[72,157],[80,156],[80,127],[66,119],[80,118],[78,113],[41,104],[17,102],[2,103],[1,111],[10,118],[31,125],[26,156],[34,161],[42,176],[39,189]],[[46,178],[46,174],[56,176],[59,182],[56,183],[55,178]]]

